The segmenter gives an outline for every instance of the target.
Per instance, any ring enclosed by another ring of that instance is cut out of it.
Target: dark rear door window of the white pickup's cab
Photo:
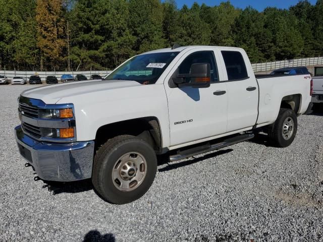
[[[221,53],[226,64],[229,81],[248,78],[247,68],[239,51],[223,50]]]

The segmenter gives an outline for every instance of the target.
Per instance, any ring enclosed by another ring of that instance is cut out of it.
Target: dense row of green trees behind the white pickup
[[[251,62],[323,55],[323,0],[289,10],[176,0],[0,0],[0,69],[113,69],[181,45],[244,48]]]

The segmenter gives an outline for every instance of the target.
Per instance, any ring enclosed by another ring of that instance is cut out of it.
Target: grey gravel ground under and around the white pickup
[[[323,113],[300,116],[285,149],[259,135],[179,162],[160,158],[147,194],[120,206],[89,180],[49,190],[33,180],[13,132],[27,88],[0,86],[0,241],[323,241]]]

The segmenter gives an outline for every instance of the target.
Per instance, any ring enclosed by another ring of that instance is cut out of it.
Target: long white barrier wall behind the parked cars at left
[[[32,75],[38,75],[42,81],[45,81],[47,76],[56,76],[57,79],[60,81],[61,76],[64,74],[70,74],[73,77],[75,77],[77,74],[82,74],[87,77],[87,79],[90,79],[90,76],[93,74],[98,74],[101,77],[106,76],[107,74],[110,74],[111,71],[83,71],[83,72],[33,72],[33,71],[5,71],[5,70],[0,70],[0,75],[5,75],[9,79],[12,79],[13,77],[25,77],[27,81],[29,80],[29,77]]]

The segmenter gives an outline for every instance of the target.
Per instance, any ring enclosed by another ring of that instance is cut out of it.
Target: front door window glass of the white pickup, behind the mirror
[[[208,63],[211,69],[211,83],[218,82],[218,69],[212,51],[198,51],[187,56],[178,67],[178,74],[189,74],[192,64]]]

